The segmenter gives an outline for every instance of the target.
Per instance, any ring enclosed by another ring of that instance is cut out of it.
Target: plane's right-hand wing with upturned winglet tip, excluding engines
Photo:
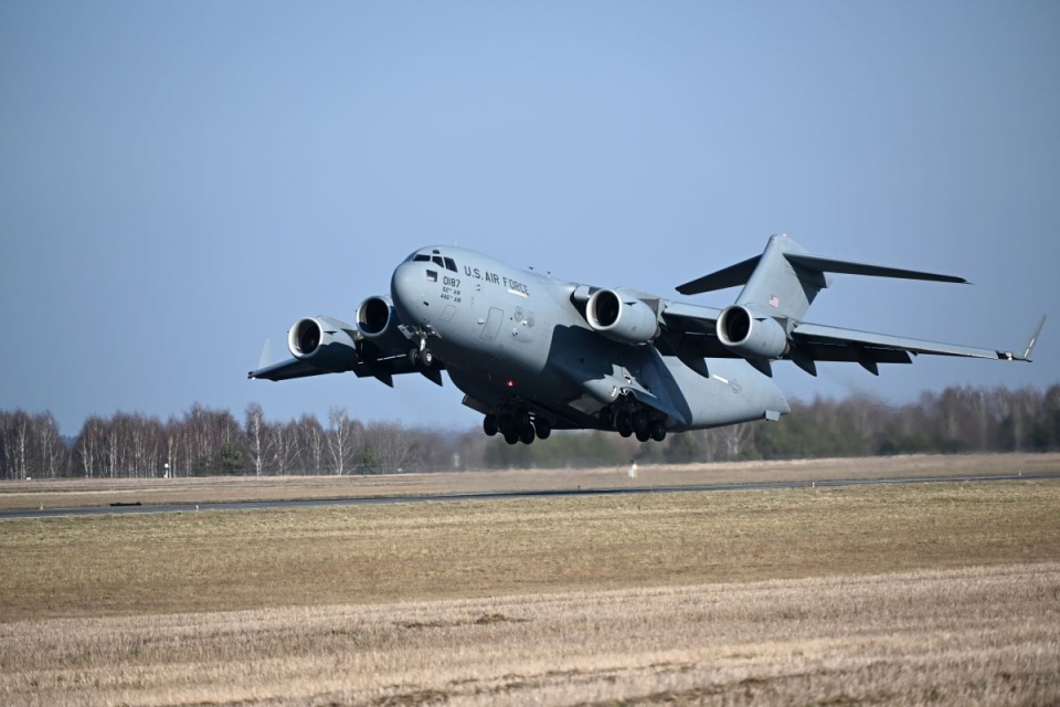
[[[669,303],[662,312],[665,339],[672,355],[682,359],[741,358],[721,344],[717,335],[720,309],[683,303]],[[879,373],[878,363],[909,363],[910,355],[957,356],[1007,361],[1029,361],[1046,318],[1042,317],[1022,349],[1004,351],[955,344],[926,341],[909,337],[872,334],[819,324],[796,325],[788,337],[791,347],[781,359],[791,360],[809,373],[816,374],[816,361],[851,361],[872,373]],[[754,361],[752,361],[754,362]]]

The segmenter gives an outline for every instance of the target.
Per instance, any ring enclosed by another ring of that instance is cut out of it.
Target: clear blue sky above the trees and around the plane
[[[808,319],[1030,366],[787,363],[792,395],[1060,381],[1054,2],[0,3],[0,409],[470,428],[460,393],[247,381],[430,243],[674,287],[787,232]],[[735,292],[692,298],[723,306]]]

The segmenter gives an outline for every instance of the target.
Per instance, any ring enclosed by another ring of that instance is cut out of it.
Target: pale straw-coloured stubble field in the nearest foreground
[[[1060,700],[1060,564],[0,625],[0,701]]]

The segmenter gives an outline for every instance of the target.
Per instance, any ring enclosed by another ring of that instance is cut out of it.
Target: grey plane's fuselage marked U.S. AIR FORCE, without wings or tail
[[[703,376],[647,342],[593,330],[579,289],[589,291],[452,246],[416,251],[391,279],[402,324],[426,335],[465,403],[484,413],[518,402],[570,423],[558,428],[597,428],[602,409],[632,394],[681,431],[788,412],[773,380],[742,359],[710,359]]]

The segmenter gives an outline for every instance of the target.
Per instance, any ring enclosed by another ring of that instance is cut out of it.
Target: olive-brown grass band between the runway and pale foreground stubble
[[[1060,483],[0,523],[0,621],[1060,560]]]

